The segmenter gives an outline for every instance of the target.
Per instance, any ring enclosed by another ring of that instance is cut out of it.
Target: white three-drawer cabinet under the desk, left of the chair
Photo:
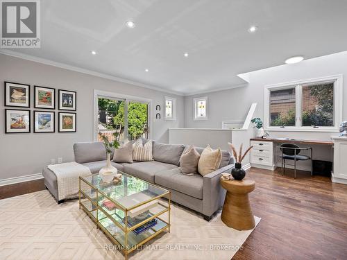
[[[273,142],[272,141],[251,141],[251,166],[255,168],[265,168],[273,170]]]

